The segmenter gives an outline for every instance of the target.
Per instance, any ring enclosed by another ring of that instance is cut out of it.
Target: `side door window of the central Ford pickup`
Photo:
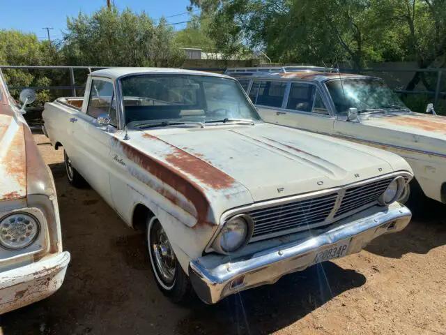
[[[95,119],[98,119],[100,114],[108,114],[110,124],[115,127],[118,126],[116,96],[111,82],[96,79],[91,81],[89,105],[87,106],[86,114]]]

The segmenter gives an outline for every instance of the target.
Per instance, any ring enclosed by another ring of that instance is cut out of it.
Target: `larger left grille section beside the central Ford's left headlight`
[[[334,208],[337,197],[338,193],[332,193],[250,211],[248,214],[254,221],[252,238],[323,223]]]

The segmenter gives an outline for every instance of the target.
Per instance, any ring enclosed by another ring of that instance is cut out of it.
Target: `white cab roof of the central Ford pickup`
[[[164,75],[207,75],[210,77],[223,77],[230,78],[228,75],[220,75],[219,73],[210,73],[197,70],[185,70],[184,68],[104,68],[102,70],[96,70],[91,75],[98,75],[101,77],[109,77],[110,79],[118,79],[128,75],[141,75],[141,74],[164,74]]]

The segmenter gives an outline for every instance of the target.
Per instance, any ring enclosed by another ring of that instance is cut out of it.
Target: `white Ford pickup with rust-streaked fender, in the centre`
[[[68,181],[90,184],[146,232],[155,281],[173,301],[213,304],[357,253],[410,221],[403,158],[266,124],[225,75],[112,68],[84,98],[46,103]],[[103,224],[107,225],[107,222]]]

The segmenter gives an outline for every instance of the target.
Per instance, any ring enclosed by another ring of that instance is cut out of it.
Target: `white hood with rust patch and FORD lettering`
[[[158,142],[167,145],[164,151],[157,150]],[[173,165],[205,188],[237,190],[244,202],[243,188],[252,201],[259,202],[343,186],[401,167],[410,171],[394,154],[272,124],[132,132],[129,144]],[[175,149],[175,156],[169,148]],[[196,161],[200,168],[193,167]]]

